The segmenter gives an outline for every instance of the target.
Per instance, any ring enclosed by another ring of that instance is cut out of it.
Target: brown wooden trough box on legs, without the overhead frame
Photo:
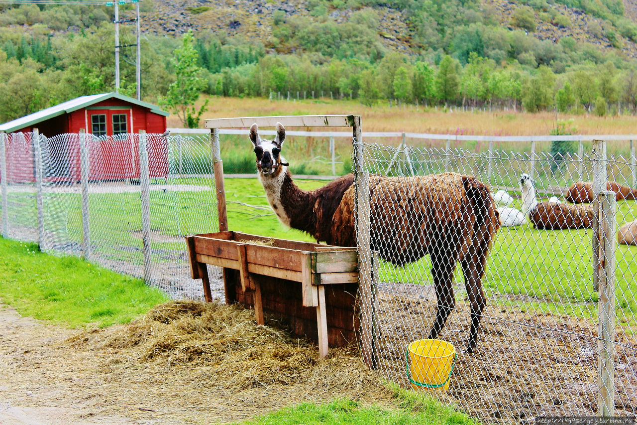
[[[203,281],[206,299],[211,300],[206,264],[218,265],[224,267],[225,301],[254,308],[257,324],[264,323],[264,311],[280,315],[292,333],[318,341],[320,357],[328,345],[355,340],[356,248],[228,231],[187,241],[192,278]]]

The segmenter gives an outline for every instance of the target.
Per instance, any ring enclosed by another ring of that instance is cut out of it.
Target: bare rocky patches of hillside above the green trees
[[[150,34],[182,34],[188,29],[195,31],[210,29],[217,34],[241,34],[248,40],[259,40],[268,45],[273,26],[273,14],[277,10],[285,12],[286,17],[312,17],[307,1],[284,0],[145,0],[152,1],[152,8],[143,16],[143,30]],[[524,3],[524,2],[521,2]],[[637,0],[624,0],[626,17],[637,22]],[[513,0],[482,0],[482,8],[494,9],[494,16],[501,25],[513,29],[512,16],[520,2]],[[540,40],[559,41],[571,36],[576,41],[586,41],[603,49],[619,47],[626,56],[637,58],[637,44],[617,31],[615,40],[609,40],[610,23],[587,15],[582,10],[568,8],[562,4],[552,4],[551,15],[560,15],[562,20],[555,22],[548,13],[534,10],[536,30],[533,35]],[[378,13],[378,35],[380,42],[391,50],[408,51],[410,28],[406,24],[404,11],[387,6],[375,6]],[[352,10],[333,10],[329,17],[336,22],[346,22]],[[566,19],[564,19],[566,17]],[[613,43],[615,47],[613,47]]]

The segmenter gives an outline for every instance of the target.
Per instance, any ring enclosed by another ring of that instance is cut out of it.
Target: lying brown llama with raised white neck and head
[[[591,228],[593,210],[580,205],[538,202],[534,182],[530,175],[520,176],[522,188],[522,210],[538,229],[563,230],[571,228]]]

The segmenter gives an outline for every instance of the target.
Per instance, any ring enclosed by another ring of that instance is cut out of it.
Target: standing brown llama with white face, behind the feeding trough
[[[279,220],[318,242],[356,246],[354,175],[339,177],[317,190],[300,190],[281,156],[285,128],[277,123],[273,140],[262,140],[257,130],[257,124],[252,124],[250,140],[258,177]],[[460,262],[471,304],[467,352],[473,352],[486,303],[482,278],[500,226],[489,187],[475,177],[449,172],[371,175],[369,195],[371,249],[399,266],[427,254],[431,257],[438,302],[429,338],[438,336],[455,306],[453,274]]]

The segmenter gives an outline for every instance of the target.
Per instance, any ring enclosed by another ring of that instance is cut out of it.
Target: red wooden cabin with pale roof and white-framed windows
[[[166,116],[159,107],[118,93],[80,96],[54,107],[0,124],[8,137],[8,180],[13,183],[35,181],[31,131],[46,136],[49,181],[80,181],[80,139],[88,135],[89,179],[122,180],[140,178],[137,133],[161,134]],[[22,133],[22,134],[19,134]],[[64,136],[62,136],[64,135]],[[164,137],[148,137],[150,177],[168,175],[168,146]],[[28,171],[25,171],[28,170]]]

